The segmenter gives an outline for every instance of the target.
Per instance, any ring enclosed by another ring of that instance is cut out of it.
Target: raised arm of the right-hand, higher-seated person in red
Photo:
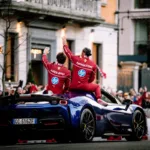
[[[70,60],[72,60],[73,53],[71,52],[71,50],[70,50],[69,47],[67,46],[67,41],[66,41],[66,38],[65,38],[65,37],[62,38],[62,42],[63,42],[63,49],[64,49],[65,54],[67,55],[67,57],[68,57]]]

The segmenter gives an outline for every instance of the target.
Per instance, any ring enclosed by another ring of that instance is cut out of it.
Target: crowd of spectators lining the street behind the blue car
[[[138,92],[134,89],[130,89],[128,92],[124,92],[122,90],[114,91],[112,88],[108,87],[105,88],[110,94],[117,97],[122,104],[132,103],[142,106],[143,108],[150,108],[150,92],[147,91],[147,88],[140,88]],[[36,85],[31,82],[28,82],[24,87],[6,87],[5,88],[5,96],[16,95],[19,96],[20,94],[31,94],[38,91],[44,91],[47,93],[47,85]],[[3,92],[0,90],[0,97],[2,96]]]

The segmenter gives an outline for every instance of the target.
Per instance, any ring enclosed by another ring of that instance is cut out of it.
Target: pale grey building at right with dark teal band
[[[119,16],[120,88],[125,85],[127,89],[133,87],[138,91],[140,86],[146,85],[150,89],[150,85],[146,83],[149,74],[146,66],[150,66],[149,11],[149,0],[119,1],[119,12],[116,14]],[[143,73],[145,69],[147,73]]]

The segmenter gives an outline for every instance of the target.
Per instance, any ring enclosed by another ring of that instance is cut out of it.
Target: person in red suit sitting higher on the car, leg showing
[[[101,89],[98,84],[92,83],[95,79],[97,71],[96,64],[89,59],[91,50],[84,48],[81,56],[75,56],[72,54],[67,46],[66,38],[63,37],[63,48],[67,57],[73,63],[72,81],[70,89],[85,90],[88,92],[95,92],[97,102],[101,105],[107,106],[107,103],[101,100]]]

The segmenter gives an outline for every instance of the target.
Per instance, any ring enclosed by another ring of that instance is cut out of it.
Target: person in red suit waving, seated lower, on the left
[[[66,61],[66,56],[63,52],[57,54],[57,63],[48,62],[47,54],[49,53],[49,48],[44,49],[44,54],[42,56],[42,61],[45,68],[48,71],[48,86],[47,90],[52,91],[54,94],[63,94],[67,92],[71,81],[71,72],[63,64]]]

